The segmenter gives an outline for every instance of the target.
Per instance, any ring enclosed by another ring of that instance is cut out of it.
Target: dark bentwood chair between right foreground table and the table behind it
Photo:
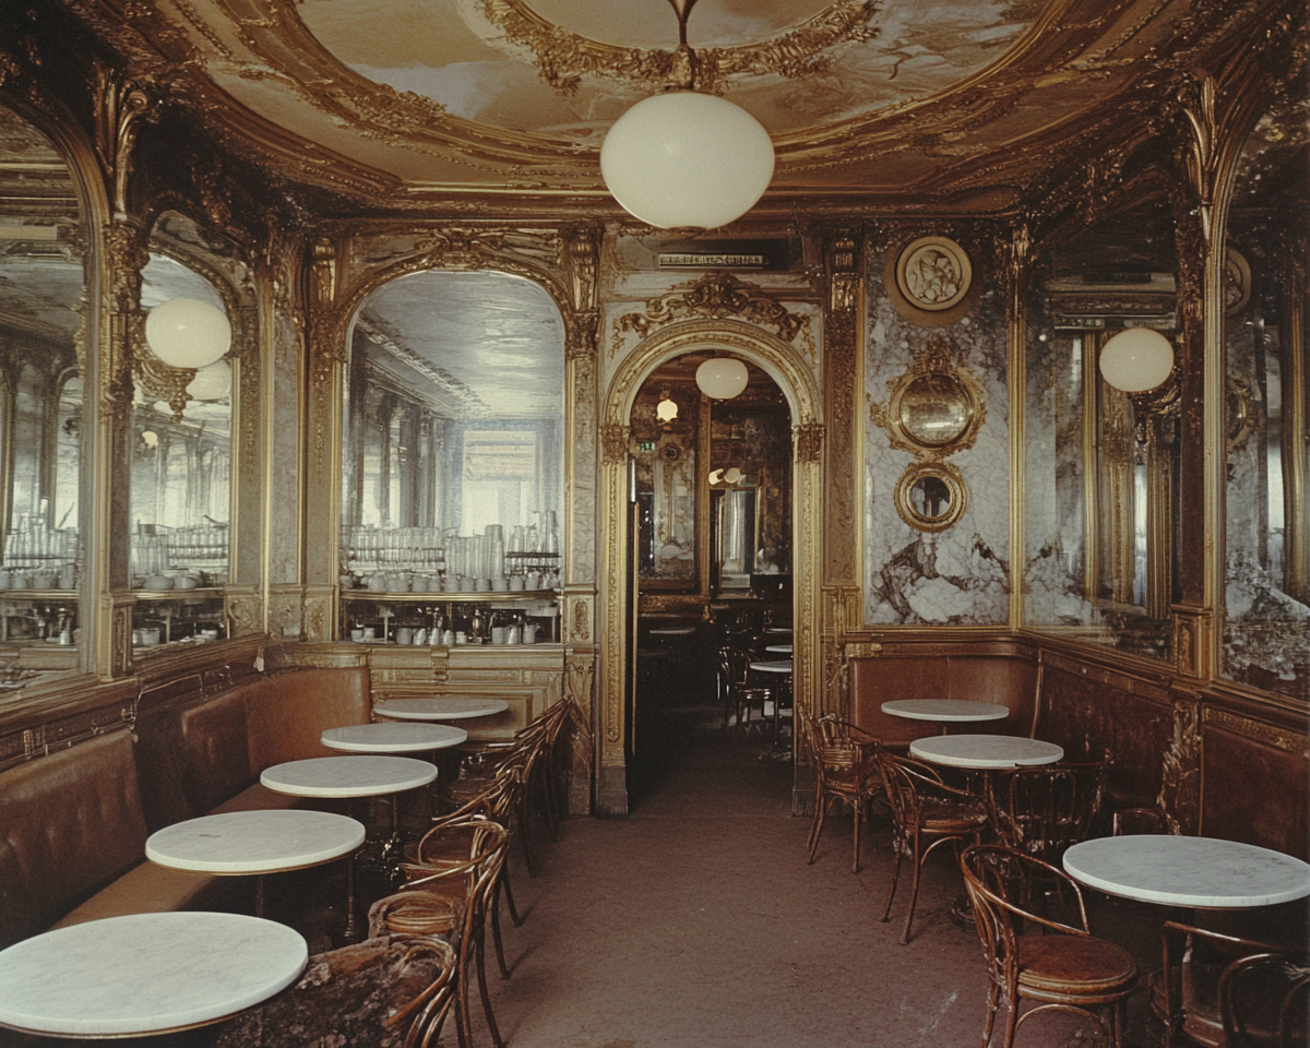
[[[1108,768],[1108,761],[1043,764],[986,776],[988,815],[997,841],[1058,866],[1070,845],[1090,836]]]

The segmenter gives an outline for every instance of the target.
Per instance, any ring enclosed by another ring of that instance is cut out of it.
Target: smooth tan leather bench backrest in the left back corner
[[[324,728],[367,724],[372,715],[368,667],[293,669],[242,685],[250,770],[309,757],[341,756],[318,736]]]

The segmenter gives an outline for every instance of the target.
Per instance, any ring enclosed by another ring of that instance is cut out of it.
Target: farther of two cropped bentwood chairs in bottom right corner
[[[1165,921],[1161,946],[1163,964],[1151,977],[1151,1011],[1165,1023],[1165,1048],[1179,1036],[1188,1044],[1227,1048],[1220,1007],[1224,971],[1255,954],[1290,956],[1297,952],[1294,946],[1243,939],[1178,921]]]

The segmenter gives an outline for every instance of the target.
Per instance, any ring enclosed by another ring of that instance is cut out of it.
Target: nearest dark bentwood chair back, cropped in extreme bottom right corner
[[[1310,954],[1255,954],[1220,976],[1224,1048],[1310,1048]]]

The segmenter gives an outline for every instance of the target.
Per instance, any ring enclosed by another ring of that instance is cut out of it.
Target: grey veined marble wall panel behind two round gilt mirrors
[[[899,242],[899,241],[897,241]],[[986,255],[965,244],[981,291],[956,322],[921,328],[892,305],[884,252],[869,253],[865,354],[865,621],[869,625],[1005,625],[1010,592],[1010,445],[1005,305]],[[914,461],[870,419],[930,338],[951,343],[951,364],[982,386],[986,419],[975,445],[948,456],[964,478],[964,515],[937,533],[896,512],[896,483]]]

